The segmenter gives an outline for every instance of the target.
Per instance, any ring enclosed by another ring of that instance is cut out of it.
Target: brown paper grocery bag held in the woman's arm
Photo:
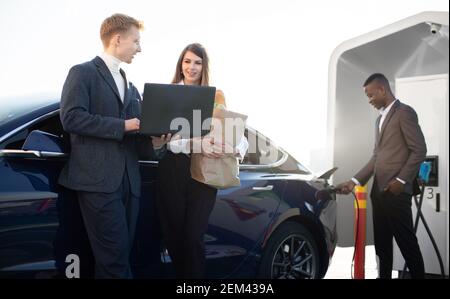
[[[235,148],[244,136],[247,116],[225,109],[214,109],[210,137]],[[223,158],[191,155],[191,177],[217,189],[240,186],[239,161],[233,154]]]

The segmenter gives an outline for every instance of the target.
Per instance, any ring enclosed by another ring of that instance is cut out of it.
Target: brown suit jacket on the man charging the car
[[[375,176],[379,191],[396,177],[406,181],[405,191],[412,194],[413,183],[427,152],[425,138],[413,108],[397,101],[378,130],[376,122],[375,148],[369,162],[354,176],[366,184]]]

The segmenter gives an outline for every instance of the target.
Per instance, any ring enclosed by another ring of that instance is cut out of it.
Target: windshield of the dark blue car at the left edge
[[[55,97],[11,96],[0,98],[0,125],[55,102]]]

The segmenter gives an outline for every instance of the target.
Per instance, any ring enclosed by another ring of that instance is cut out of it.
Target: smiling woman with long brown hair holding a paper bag
[[[209,86],[209,59],[200,44],[188,45],[180,55],[172,83]],[[215,107],[225,107],[223,93],[216,92]],[[172,138],[167,154],[159,162],[157,210],[163,240],[169,251],[177,278],[202,278],[205,274],[204,234],[208,229],[217,189],[191,178],[192,149],[220,159],[225,145],[209,137]],[[245,155],[248,142],[243,138],[234,149],[236,157]]]

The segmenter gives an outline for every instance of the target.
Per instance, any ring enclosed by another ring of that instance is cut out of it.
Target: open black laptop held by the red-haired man
[[[139,133],[204,136],[210,131],[215,94],[210,86],[146,83]]]

